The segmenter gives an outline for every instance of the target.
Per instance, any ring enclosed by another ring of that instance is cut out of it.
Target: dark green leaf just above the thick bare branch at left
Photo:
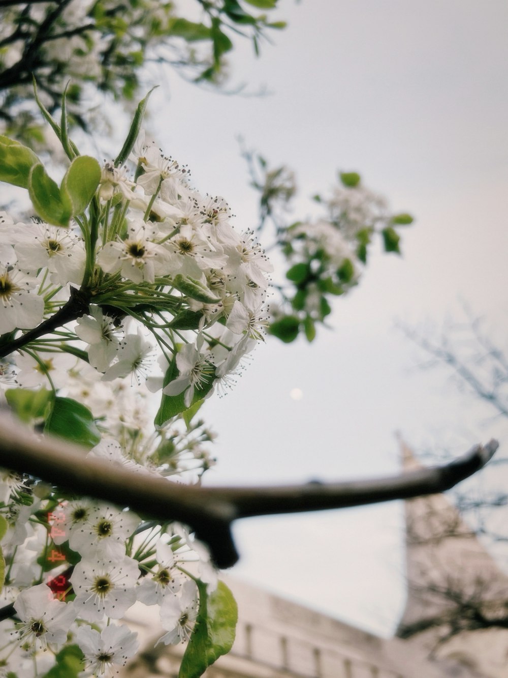
[[[57,435],[89,450],[100,442],[100,432],[88,407],[72,398],[55,398],[55,404],[46,425],[45,433]]]

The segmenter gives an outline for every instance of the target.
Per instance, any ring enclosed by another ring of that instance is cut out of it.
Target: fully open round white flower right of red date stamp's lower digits
[[[100,622],[105,614],[121,619],[135,603],[139,576],[137,561],[127,556],[114,563],[105,563],[102,559],[82,560],[70,577],[76,593],[77,616],[88,622]]]

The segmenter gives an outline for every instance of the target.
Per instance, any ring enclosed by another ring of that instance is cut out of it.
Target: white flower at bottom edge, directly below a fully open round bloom
[[[127,626],[110,624],[101,633],[90,626],[80,626],[76,640],[83,650],[88,671],[98,678],[110,678],[119,671],[116,666],[125,666],[139,647],[137,633]]]

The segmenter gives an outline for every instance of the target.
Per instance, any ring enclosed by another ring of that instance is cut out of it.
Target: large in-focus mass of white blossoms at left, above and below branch
[[[67,144],[72,162],[48,197],[37,156],[0,138],[1,178],[26,185],[39,215],[0,214],[1,393],[112,468],[196,482],[213,465],[213,434],[193,417],[263,340],[272,269],[226,201],[192,188],[186,165],[143,132],[131,145],[129,171]],[[13,179],[16,161],[32,167]],[[152,433],[150,393],[161,396]],[[71,643],[83,675],[116,675],[137,650],[121,624],[135,603],[159,607],[161,642],[192,637],[217,576],[184,527],[7,472],[0,500],[2,597],[20,620],[0,626],[6,670],[41,675],[51,662],[40,651]]]

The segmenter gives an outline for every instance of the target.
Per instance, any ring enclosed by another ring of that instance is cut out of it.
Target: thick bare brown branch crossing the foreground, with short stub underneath
[[[232,521],[255,515],[341,509],[443,492],[484,466],[498,447],[475,445],[465,456],[435,468],[385,479],[282,487],[189,487],[85,458],[81,447],[41,438],[9,414],[0,416],[0,465],[35,475],[71,492],[129,506],[161,521],[181,521],[207,542],[219,567],[238,559]]]

